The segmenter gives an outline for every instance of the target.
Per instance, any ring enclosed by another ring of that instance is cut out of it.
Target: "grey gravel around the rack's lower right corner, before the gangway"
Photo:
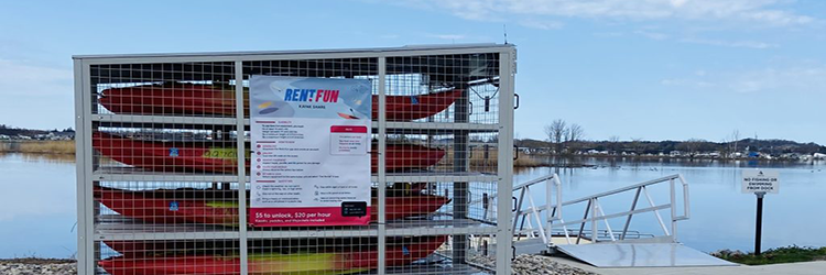
[[[474,256],[470,262],[493,266],[492,257]],[[570,265],[562,264],[542,255],[519,255],[511,262],[514,275],[598,275]]]

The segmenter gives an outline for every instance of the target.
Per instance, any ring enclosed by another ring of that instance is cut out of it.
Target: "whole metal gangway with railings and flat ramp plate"
[[[544,190],[537,186],[542,183],[545,184]],[[667,185],[667,202],[654,201],[649,189],[656,185]],[[539,241],[546,252],[562,252],[600,267],[730,264],[677,242],[677,222],[691,217],[688,183],[680,174],[567,201],[563,200],[562,180],[557,174],[519,184],[513,187],[513,193],[517,195],[513,197],[512,227],[514,239],[518,240],[514,251],[520,243],[530,245]],[[634,195],[628,210],[606,212],[600,204],[608,196],[630,193]],[[535,195],[544,196],[546,204],[537,206]],[[648,206],[641,205],[640,200],[648,202]],[[583,204],[586,205],[584,212],[577,216],[582,218],[568,221],[563,218],[563,212],[582,208]],[[663,219],[660,211],[670,211],[669,219]],[[634,216],[648,212],[656,218],[662,235],[629,229]],[[615,230],[609,223],[610,219],[624,219],[622,229]],[[605,229],[600,229],[600,223]],[[586,230],[587,224],[590,227]],[[534,242],[520,242],[521,238]],[[535,250],[529,253],[535,253]]]

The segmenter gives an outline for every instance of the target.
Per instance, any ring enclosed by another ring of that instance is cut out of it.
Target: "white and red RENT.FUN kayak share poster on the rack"
[[[371,98],[365,79],[250,78],[250,223],[370,222]]]

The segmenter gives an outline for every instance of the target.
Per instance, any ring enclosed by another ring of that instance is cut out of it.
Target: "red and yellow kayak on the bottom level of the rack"
[[[405,244],[388,245],[387,266],[402,266],[426,257],[447,237],[420,237]],[[350,246],[318,252],[250,253],[249,274],[349,274],[378,267],[376,246]],[[225,275],[239,274],[235,255],[118,256],[98,262],[111,275]]]

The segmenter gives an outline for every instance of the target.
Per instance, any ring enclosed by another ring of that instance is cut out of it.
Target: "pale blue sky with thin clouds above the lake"
[[[72,55],[517,44],[519,138],[826,144],[826,1],[2,1],[0,123],[74,127]]]

